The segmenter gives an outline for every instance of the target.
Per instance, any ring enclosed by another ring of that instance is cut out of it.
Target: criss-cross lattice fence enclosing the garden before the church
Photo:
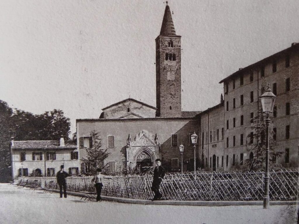
[[[298,171],[280,170],[270,172],[269,196],[271,201],[296,200],[298,190]],[[59,186],[55,177],[19,177],[28,185],[38,179],[38,186],[52,188]],[[72,176],[66,178],[68,191],[91,191],[95,188],[92,177]],[[115,176],[104,178],[102,194],[112,197],[132,199],[150,199],[152,175]],[[200,201],[255,201],[263,200],[264,173],[259,172],[197,172],[168,173],[160,185],[160,191],[166,200],[200,200]]]

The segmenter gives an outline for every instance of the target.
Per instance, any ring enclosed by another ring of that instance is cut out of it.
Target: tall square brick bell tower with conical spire
[[[166,7],[156,41],[157,117],[181,116],[181,36],[176,35],[171,11]]]

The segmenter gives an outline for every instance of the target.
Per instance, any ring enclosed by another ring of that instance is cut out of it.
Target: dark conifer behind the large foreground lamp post
[[[266,166],[266,122],[263,115],[263,111],[259,110],[258,115],[253,118],[253,138],[256,139],[256,144],[250,144],[251,136],[248,135],[246,138],[246,147],[248,151],[252,151],[254,154],[253,159],[247,159],[246,163],[250,170],[264,169]],[[269,125],[269,168],[277,169],[279,165],[276,164],[276,159],[281,157],[283,152],[274,151],[276,141],[273,139],[273,131],[271,123]]]

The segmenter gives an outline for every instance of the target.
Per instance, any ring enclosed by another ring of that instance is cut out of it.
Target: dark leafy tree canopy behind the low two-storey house
[[[10,108],[0,100],[0,182],[11,176],[10,140],[59,140],[69,139],[70,119],[62,110],[54,109],[39,115]]]

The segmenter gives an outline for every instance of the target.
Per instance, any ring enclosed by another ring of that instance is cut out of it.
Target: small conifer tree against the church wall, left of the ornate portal
[[[83,173],[86,175],[94,175],[97,168],[103,168],[104,159],[109,155],[107,149],[101,149],[102,139],[99,132],[91,131],[90,137],[92,138],[92,145],[90,148],[86,148],[86,158],[82,159],[85,164]]]

